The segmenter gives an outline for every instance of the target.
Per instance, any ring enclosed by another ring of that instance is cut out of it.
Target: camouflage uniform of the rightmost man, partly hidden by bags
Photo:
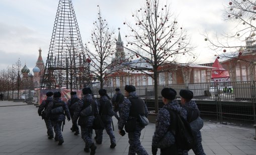
[[[185,103],[184,105],[182,105],[182,109],[185,111],[185,117],[184,117],[185,119],[187,119],[187,116],[188,116],[186,108],[191,108],[191,109],[197,109],[198,110],[197,104],[194,100],[191,100],[191,101]],[[197,138],[197,143],[192,148],[192,150],[194,151],[194,153],[196,155],[205,155],[205,152],[204,152],[204,149],[203,149],[203,146],[202,146],[201,131],[199,131],[197,133],[196,138]],[[188,154],[188,151],[183,151],[183,154],[184,155]]]

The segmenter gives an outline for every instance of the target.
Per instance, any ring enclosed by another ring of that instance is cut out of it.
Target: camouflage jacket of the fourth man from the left
[[[80,112],[83,110],[83,104],[84,102],[92,102],[93,97],[91,94],[86,94],[82,97],[81,100],[78,101],[77,107],[74,110],[74,115],[72,118],[72,122],[76,122],[77,119],[82,119],[81,121],[84,123],[82,126],[93,126],[94,118],[95,116],[88,116],[88,117],[80,117]],[[96,110],[98,112],[98,102],[97,100],[94,100],[94,104],[96,106]],[[78,121],[80,122],[80,121]]]

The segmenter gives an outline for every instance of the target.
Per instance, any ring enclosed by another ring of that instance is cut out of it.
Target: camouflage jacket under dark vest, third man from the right
[[[139,96],[137,95],[137,93],[135,91],[133,91],[133,92],[129,93],[128,98],[124,99],[124,104],[121,109],[120,120],[118,123],[118,129],[120,129],[120,130],[124,128],[124,124],[126,123],[126,121],[129,118],[130,107],[132,105],[129,98],[139,98]],[[145,117],[147,117],[147,113],[148,113],[147,106],[145,105],[144,107],[145,107]]]

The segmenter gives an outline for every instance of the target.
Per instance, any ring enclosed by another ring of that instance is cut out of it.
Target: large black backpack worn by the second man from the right
[[[190,150],[195,146],[195,136],[192,132],[189,122],[183,118],[180,113],[165,108],[169,111],[170,121],[174,124],[170,125],[169,129],[175,130],[175,141],[177,147],[182,150]]]

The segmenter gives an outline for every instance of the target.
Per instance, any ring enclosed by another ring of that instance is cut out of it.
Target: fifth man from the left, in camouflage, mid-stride
[[[101,118],[103,120],[106,132],[108,133],[108,135],[110,137],[110,142],[111,142],[110,148],[115,148],[116,138],[115,138],[113,128],[112,128],[112,116],[114,115],[115,112],[112,109],[111,101],[106,96],[106,94],[107,94],[106,89],[100,89],[99,94],[101,96],[101,98],[99,100],[99,107],[100,107],[99,114],[101,115]],[[96,142],[98,144],[101,144],[102,138],[103,138],[103,129],[99,129],[96,132],[97,132]]]

